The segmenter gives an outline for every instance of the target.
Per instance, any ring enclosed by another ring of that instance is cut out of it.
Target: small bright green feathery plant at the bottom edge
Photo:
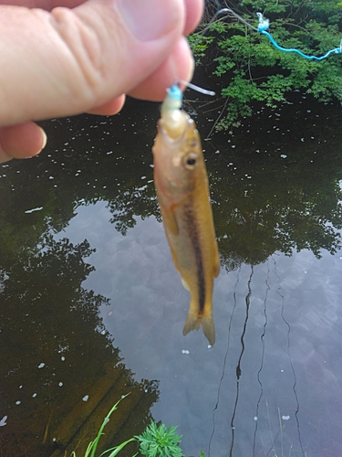
[[[181,436],[176,435],[176,429],[166,428],[164,424],[158,427],[152,421],[141,435],[135,437],[140,441],[140,453],[147,457],[183,457],[178,445]]]

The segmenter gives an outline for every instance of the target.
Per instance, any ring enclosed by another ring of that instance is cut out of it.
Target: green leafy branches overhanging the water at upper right
[[[234,8],[253,27],[257,26],[255,12],[262,11],[271,21],[270,33],[283,48],[317,57],[339,48],[342,7],[337,1],[243,0]],[[252,115],[255,102],[276,107],[293,90],[304,90],[317,101],[342,103],[340,53],[317,61],[280,51],[233,16],[202,25],[190,43],[198,61],[213,63],[212,73],[222,81],[226,112],[217,130],[239,125],[242,116]]]

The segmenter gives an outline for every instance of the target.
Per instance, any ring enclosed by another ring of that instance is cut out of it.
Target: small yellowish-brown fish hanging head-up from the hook
[[[189,114],[181,111],[181,103],[182,93],[175,84],[161,105],[152,147],[154,185],[173,263],[191,295],[182,333],[187,335],[202,325],[213,345],[212,291],[220,257],[201,137]]]

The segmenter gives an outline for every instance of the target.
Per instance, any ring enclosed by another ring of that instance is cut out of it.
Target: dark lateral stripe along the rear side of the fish
[[[204,311],[205,304],[205,280],[204,280],[204,269],[202,262],[202,250],[200,245],[200,239],[198,236],[198,230],[195,224],[195,215],[192,210],[192,201],[189,202],[186,207],[184,207],[185,214],[185,223],[190,234],[190,239],[192,240],[192,248],[195,254],[196,267],[197,267],[197,287],[198,287],[198,296],[199,296],[199,305],[200,305],[200,314]]]

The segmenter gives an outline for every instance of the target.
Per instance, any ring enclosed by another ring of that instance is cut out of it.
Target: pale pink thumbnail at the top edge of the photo
[[[157,39],[170,32],[180,20],[178,3],[174,0],[117,0],[120,15],[140,41]]]

